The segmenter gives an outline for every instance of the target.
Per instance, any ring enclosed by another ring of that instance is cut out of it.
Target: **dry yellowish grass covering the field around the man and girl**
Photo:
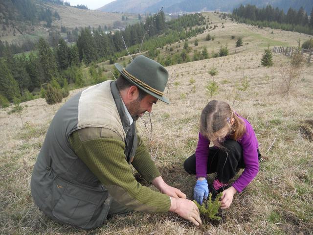
[[[250,28],[246,26],[245,30]],[[253,30],[263,35],[265,29]],[[289,44],[296,43],[293,37]],[[264,68],[260,66],[261,56],[260,51],[248,49],[240,54],[168,67],[171,78],[177,81],[167,95],[171,104],[158,102],[152,113],[152,141],[146,141],[152,157],[165,181],[191,198],[195,178],[184,172],[182,164],[195,150],[199,116],[209,101],[204,88],[210,79],[208,70],[213,64],[217,67],[219,74],[215,80],[220,93],[213,98],[234,103],[233,108],[248,118],[265,158],[254,181],[223,211],[222,223],[196,228],[172,213],[134,212],[114,217],[101,228],[86,232],[48,219],[34,205],[29,183],[49,122],[61,104],[49,106],[45,100],[37,99],[22,104],[28,106],[22,112],[28,126],[22,127],[15,114],[8,115],[10,108],[0,110],[0,233],[313,234],[313,142],[309,138],[313,67],[305,67],[298,86],[287,95],[281,92],[279,67],[288,58],[275,55],[274,67]],[[248,76],[250,86],[237,94],[236,86],[244,75]],[[190,84],[190,78],[195,79],[194,84]],[[140,120],[138,126],[147,135]]]

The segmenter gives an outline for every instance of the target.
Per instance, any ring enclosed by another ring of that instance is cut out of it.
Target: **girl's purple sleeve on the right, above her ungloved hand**
[[[243,148],[243,159],[246,165],[243,173],[232,184],[238,192],[241,192],[246,186],[254,179],[259,171],[258,160],[258,141],[254,134],[254,130],[250,123],[244,120],[246,123],[246,133],[243,135],[239,143]]]

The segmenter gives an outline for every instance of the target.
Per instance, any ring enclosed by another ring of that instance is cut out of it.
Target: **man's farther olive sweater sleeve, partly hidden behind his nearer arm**
[[[151,159],[150,153],[142,141],[140,134],[137,134],[137,139],[138,146],[132,164],[143,178],[151,183],[156,177],[161,176],[161,174]]]

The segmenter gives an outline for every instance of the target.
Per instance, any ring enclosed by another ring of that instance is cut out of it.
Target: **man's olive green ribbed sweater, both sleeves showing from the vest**
[[[125,159],[125,143],[114,137],[103,138],[101,131],[105,131],[104,128],[80,129],[71,134],[69,141],[73,151],[108,189],[112,198],[134,211],[169,211],[171,206],[169,196],[144,187],[135,180],[132,169]],[[88,132],[93,134],[85,138]],[[140,135],[137,134],[137,138],[138,145],[132,164],[148,182],[152,182],[160,176],[160,173]]]

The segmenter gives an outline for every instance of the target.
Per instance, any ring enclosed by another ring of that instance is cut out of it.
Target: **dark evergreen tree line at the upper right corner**
[[[232,17],[239,23],[258,25],[259,27],[280,28],[286,31],[296,31],[313,35],[313,8],[308,13],[303,7],[298,11],[289,8],[287,14],[278,7],[267,5],[257,8],[255,5],[247,4],[235,8]]]

